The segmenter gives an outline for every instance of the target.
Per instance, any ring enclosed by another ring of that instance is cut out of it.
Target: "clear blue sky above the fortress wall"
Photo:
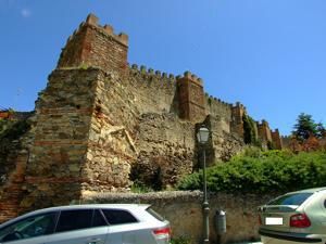
[[[301,112],[326,123],[325,0],[0,0],[0,107],[34,110],[90,12],[129,36],[130,64],[190,70],[283,134]]]

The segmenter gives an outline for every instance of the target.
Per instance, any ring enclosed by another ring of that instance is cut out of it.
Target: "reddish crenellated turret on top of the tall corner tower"
[[[123,33],[116,35],[112,26],[101,26],[98,21],[96,15],[89,14],[68,37],[58,62],[59,68],[93,66],[125,74],[128,36]]]

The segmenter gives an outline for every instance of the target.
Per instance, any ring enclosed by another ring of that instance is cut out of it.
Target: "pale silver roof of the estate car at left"
[[[60,211],[60,210],[72,210],[72,209],[87,209],[87,208],[110,208],[110,209],[125,209],[125,210],[140,210],[140,209],[147,209],[151,205],[149,204],[80,204],[80,205],[66,205],[66,206],[58,206],[58,207],[49,207],[49,208],[42,208],[38,210],[34,210],[30,213],[27,213],[25,215],[22,215],[20,217],[16,217],[14,219],[11,219],[7,222],[3,222],[0,224],[2,227],[3,224],[8,224],[11,222],[14,222],[16,220],[29,217],[29,216],[35,216],[35,215],[41,215],[50,211]]]

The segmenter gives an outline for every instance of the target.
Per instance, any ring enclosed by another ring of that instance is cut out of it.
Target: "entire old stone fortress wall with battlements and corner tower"
[[[242,150],[242,104],[204,94],[203,81],[190,72],[174,76],[129,66],[127,53],[127,35],[100,26],[92,14],[68,38],[39,93],[24,152],[5,158],[20,166],[3,174],[9,180],[0,184],[1,200],[10,198],[13,185],[18,191],[0,222],[95,192],[129,191],[133,182],[174,185],[200,167],[200,125],[212,131],[209,164]],[[264,143],[281,147],[266,121],[256,131]]]

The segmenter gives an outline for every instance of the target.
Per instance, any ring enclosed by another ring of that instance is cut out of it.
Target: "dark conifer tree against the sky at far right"
[[[297,118],[292,134],[299,141],[305,141],[310,134],[319,137],[321,130],[324,129],[322,124],[316,124],[311,115],[301,113]],[[324,129],[325,130],[325,129]]]

